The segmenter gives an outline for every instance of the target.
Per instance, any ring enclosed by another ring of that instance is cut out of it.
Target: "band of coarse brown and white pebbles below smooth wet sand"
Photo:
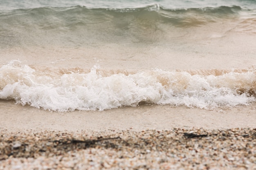
[[[256,129],[0,132],[0,170],[256,170]]]

